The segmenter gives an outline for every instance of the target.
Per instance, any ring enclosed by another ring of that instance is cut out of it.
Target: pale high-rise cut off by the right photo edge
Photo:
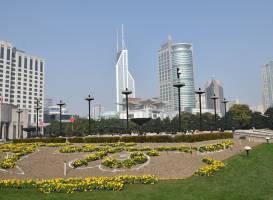
[[[273,107],[273,61],[262,66],[263,110]]]

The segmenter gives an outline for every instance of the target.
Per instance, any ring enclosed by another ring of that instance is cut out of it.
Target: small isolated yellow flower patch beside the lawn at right
[[[222,161],[214,160],[213,158],[210,157],[205,157],[202,159],[202,161],[206,164],[207,166],[200,167],[195,174],[200,175],[200,176],[213,176],[215,172],[220,170],[225,166],[225,164]]]

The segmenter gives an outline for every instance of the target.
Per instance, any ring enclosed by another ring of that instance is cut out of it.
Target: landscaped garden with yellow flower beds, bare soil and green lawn
[[[57,138],[3,144],[0,199],[249,199],[254,189],[262,195],[251,198],[271,198],[272,144],[204,138],[179,138],[193,143],[178,138],[158,143],[153,137],[136,143],[128,137],[126,142]],[[245,146],[253,147],[249,157]]]

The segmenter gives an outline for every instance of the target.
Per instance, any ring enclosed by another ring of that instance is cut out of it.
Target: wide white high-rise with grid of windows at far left
[[[0,98],[3,103],[28,109],[30,125],[36,123],[36,102],[40,101],[39,121],[44,113],[45,60],[0,41]]]

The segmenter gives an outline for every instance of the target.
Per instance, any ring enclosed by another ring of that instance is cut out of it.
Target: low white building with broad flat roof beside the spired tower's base
[[[122,106],[124,107],[124,111],[120,113],[120,119],[126,119],[126,103],[124,102]],[[164,103],[159,98],[129,98],[129,118],[166,118],[163,106]]]

